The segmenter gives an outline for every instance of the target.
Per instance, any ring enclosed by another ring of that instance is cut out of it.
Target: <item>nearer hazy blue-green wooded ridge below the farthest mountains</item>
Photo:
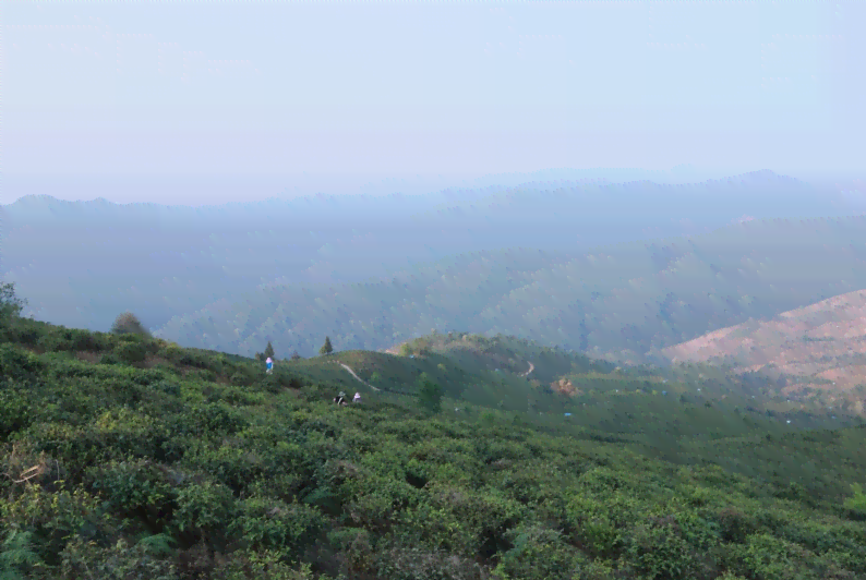
[[[464,253],[353,285],[262,286],[173,318],[156,334],[251,355],[380,350],[459,328],[516,335],[624,364],[662,349],[866,288],[866,217],[751,220],[689,239]]]

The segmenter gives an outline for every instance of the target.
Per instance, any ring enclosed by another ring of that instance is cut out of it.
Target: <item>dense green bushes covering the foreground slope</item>
[[[698,387],[669,378],[653,394],[650,370],[565,367],[573,355],[514,339],[430,337],[414,359],[336,352],[266,375],[135,331],[7,316],[0,335],[3,578],[866,578],[866,496],[849,485],[866,472],[866,430],[719,408],[767,402],[749,385],[719,380],[726,395],[663,411]],[[482,368],[484,352],[497,365],[520,349],[541,376],[562,364],[554,378],[596,392]],[[478,403],[460,398],[488,378],[510,408],[481,386]],[[349,385],[364,402],[330,403]],[[519,410],[520,385],[560,409]],[[623,413],[629,388],[627,412],[652,414],[628,428],[560,412],[593,397]],[[675,435],[690,445],[666,457],[651,419],[699,410]]]

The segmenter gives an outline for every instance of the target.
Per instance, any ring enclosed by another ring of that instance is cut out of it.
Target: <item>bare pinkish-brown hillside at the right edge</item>
[[[722,328],[663,352],[673,362],[709,362],[737,374],[762,372],[780,380],[785,396],[819,395],[863,413],[866,291]]]

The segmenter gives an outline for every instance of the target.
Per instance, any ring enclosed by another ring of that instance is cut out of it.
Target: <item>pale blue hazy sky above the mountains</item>
[[[864,22],[855,1],[5,2],[0,203],[425,193],[600,168],[854,191]]]

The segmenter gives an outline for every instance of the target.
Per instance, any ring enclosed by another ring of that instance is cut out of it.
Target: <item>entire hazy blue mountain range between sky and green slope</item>
[[[70,327],[131,310],[182,345],[245,354],[465,328],[641,362],[866,288],[862,218],[827,218],[845,203],[771,171],[200,208],[32,196],[2,206],[0,242],[24,314]]]

